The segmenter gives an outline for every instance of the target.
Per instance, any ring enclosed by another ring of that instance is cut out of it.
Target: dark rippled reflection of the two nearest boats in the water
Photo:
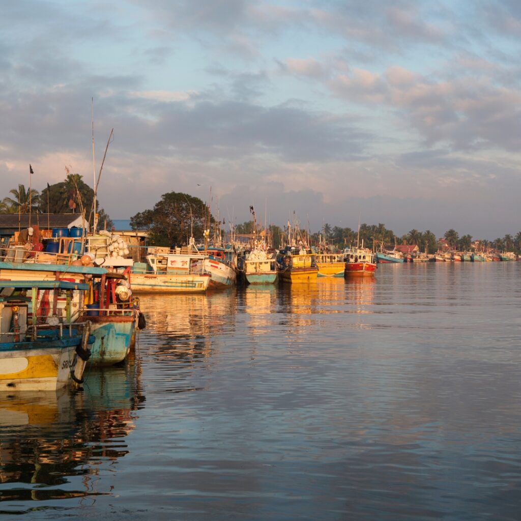
[[[139,373],[130,359],[121,367],[91,369],[83,391],[0,394],[0,483],[16,483],[2,488],[4,514],[110,494],[104,471],[129,452],[125,438],[144,402]]]

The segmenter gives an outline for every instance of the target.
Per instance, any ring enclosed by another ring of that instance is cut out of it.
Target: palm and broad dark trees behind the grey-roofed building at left
[[[0,213],[2,214],[28,214],[28,213],[51,213],[51,214],[80,214],[84,209],[85,218],[90,219],[92,215],[94,190],[82,180],[78,173],[67,173],[64,181],[59,183],[47,183],[47,187],[41,192],[33,188],[27,188],[19,184],[18,188],[9,190],[10,196],[0,201]],[[113,223],[96,199],[96,213],[98,223],[110,228]]]

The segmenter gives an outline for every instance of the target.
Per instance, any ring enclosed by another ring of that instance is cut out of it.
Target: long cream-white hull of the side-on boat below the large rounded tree
[[[132,293],[204,293],[209,275],[130,274]]]

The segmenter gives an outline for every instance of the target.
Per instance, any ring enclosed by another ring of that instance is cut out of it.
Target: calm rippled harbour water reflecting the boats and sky
[[[521,517],[521,263],[142,297],[126,366],[0,395],[24,519]]]

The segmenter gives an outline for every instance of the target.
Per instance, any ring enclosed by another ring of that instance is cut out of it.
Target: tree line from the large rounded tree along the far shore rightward
[[[206,224],[205,224],[206,222]],[[199,197],[194,197],[185,193],[169,192],[162,195],[152,209],[144,210],[132,216],[130,225],[132,229],[148,230],[150,242],[156,245],[182,245],[187,244],[190,237],[194,237],[197,242],[202,240],[203,230],[210,225],[215,228],[226,225],[224,219],[216,220],[211,214],[210,209]],[[242,224],[229,226],[237,234],[251,234],[254,232],[255,224],[253,220],[245,221]],[[257,232],[261,227],[257,225]],[[288,238],[286,227],[274,224],[269,225],[267,230],[271,245],[275,248],[285,244]],[[320,240],[332,244],[338,249],[343,249],[355,245],[358,241],[369,249],[379,250],[380,247],[392,250],[398,244],[417,245],[420,251],[430,254],[436,253],[440,244],[438,238],[431,230],[419,231],[412,229],[404,235],[396,235],[392,230],[388,230],[381,222],[378,225],[360,225],[358,230],[342,228],[325,224],[322,228],[312,233],[307,230],[306,234],[312,244],[318,244]],[[451,249],[457,251],[469,251],[472,249],[474,240],[472,235],[460,235],[454,229],[447,230],[443,238]],[[480,240],[480,248],[495,249],[498,251],[521,252],[521,231],[515,237],[510,234],[494,241]]]

